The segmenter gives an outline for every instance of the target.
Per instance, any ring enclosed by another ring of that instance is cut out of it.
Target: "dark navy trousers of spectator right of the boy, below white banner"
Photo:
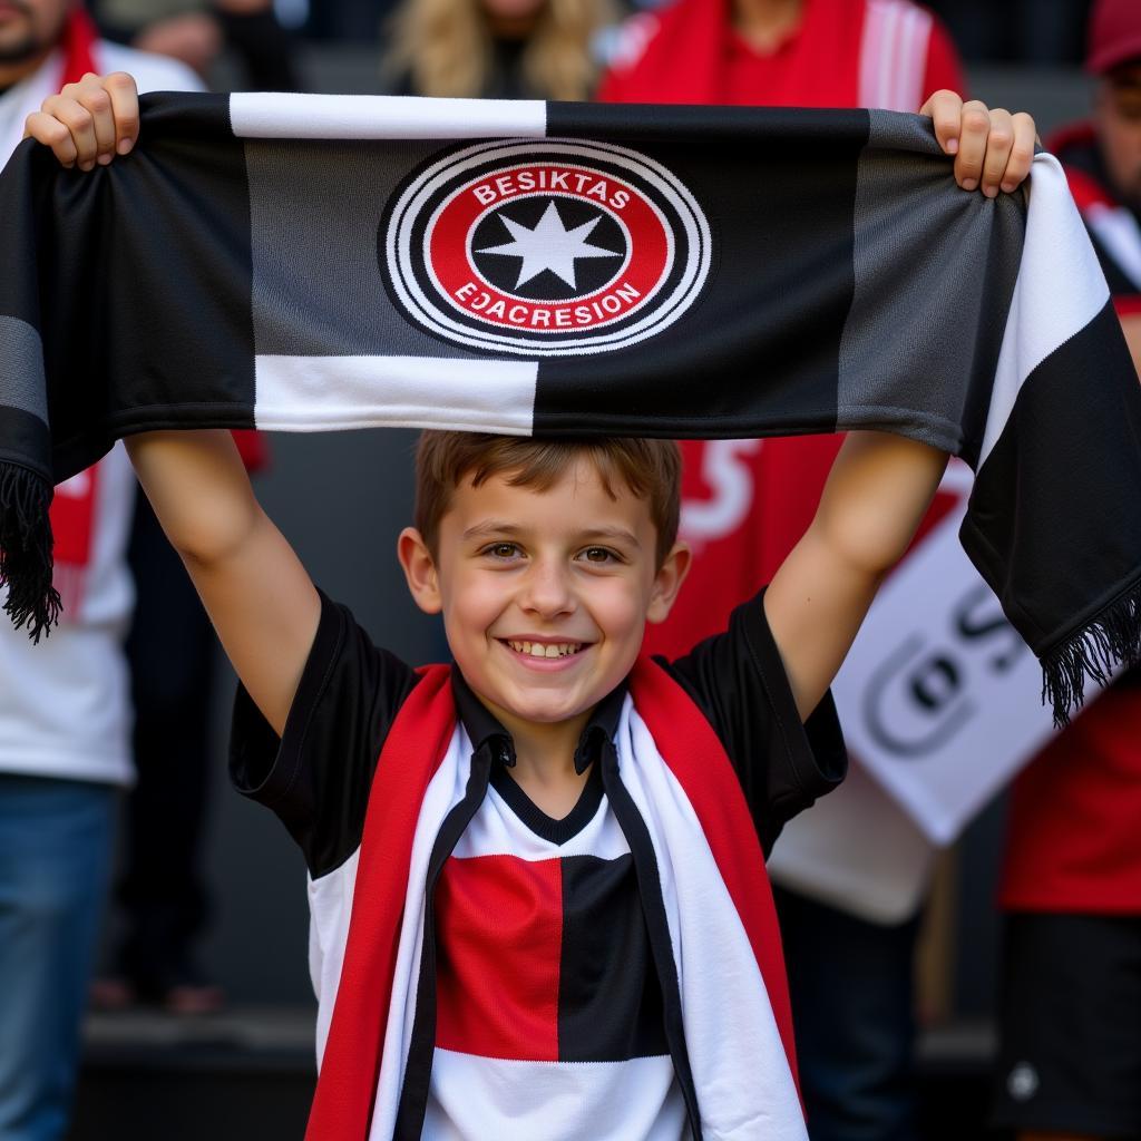
[[[811,1141],[916,1141],[919,916],[866,923],[774,888]]]

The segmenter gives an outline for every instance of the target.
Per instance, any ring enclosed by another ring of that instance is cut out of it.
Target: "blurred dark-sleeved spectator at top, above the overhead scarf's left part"
[[[252,90],[300,89],[296,43],[273,0],[95,0],[92,7],[112,39],[180,59],[200,75],[228,49]]]

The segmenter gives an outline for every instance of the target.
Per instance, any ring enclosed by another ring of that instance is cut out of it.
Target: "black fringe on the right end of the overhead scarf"
[[[1141,582],[1119,594],[1069,641],[1042,659],[1042,703],[1054,710],[1054,727],[1069,725],[1082,705],[1085,679],[1109,683],[1111,672],[1141,661]]]

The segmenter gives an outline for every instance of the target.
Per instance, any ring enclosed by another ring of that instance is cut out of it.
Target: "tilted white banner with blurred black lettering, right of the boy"
[[[958,504],[884,583],[833,687],[852,753],[936,844],[1053,733],[1042,667],[960,545],[968,487],[956,461]]]

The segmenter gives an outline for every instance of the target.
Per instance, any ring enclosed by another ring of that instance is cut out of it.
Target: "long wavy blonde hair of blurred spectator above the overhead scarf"
[[[545,0],[521,60],[535,98],[590,98],[598,78],[592,41],[614,15],[612,0]],[[385,72],[410,75],[416,95],[478,97],[493,63],[480,0],[404,0],[393,17]]]

